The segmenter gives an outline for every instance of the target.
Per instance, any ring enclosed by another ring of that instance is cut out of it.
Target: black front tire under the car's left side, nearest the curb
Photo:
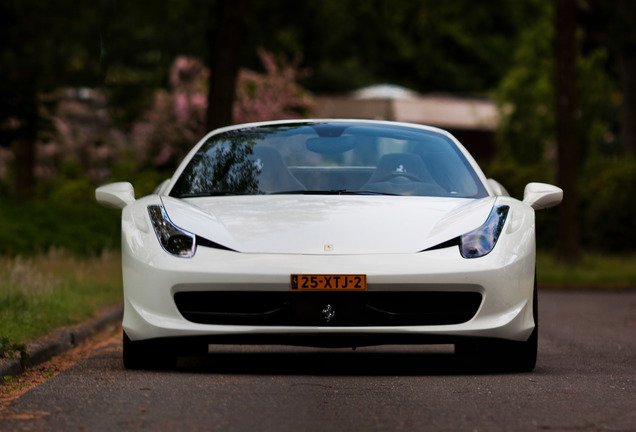
[[[126,332],[123,339],[123,360],[126,369],[170,369],[177,365],[177,355],[170,347],[152,340],[134,342]]]

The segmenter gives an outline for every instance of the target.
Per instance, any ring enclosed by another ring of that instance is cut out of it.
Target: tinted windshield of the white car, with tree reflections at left
[[[286,193],[488,195],[447,136],[356,122],[286,123],[213,135],[190,159],[170,195]]]

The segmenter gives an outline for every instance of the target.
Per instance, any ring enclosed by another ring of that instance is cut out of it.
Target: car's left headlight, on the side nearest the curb
[[[166,210],[160,205],[148,206],[148,214],[157,239],[170,255],[192,258],[197,250],[196,236],[172,223]]]

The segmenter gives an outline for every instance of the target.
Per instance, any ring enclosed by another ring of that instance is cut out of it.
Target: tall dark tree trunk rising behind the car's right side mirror
[[[564,191],[559,207],[558,256],[580,259],[578,145],[576,142],[576,2],[557,0],[555,14],[555,93],[558,183]]]

